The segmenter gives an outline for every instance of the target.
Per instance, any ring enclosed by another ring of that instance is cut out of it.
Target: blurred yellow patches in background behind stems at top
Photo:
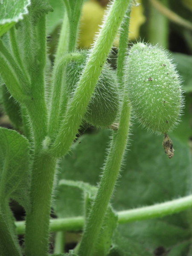
[[[140,1],[137,1],[140,3]],[[79,29],[79,47],[90,47],[93,44],[96,32],[99,32],[99,25],[102,24],[102,18],[105,13],[105,7],[102,7],[97,0],[89,0],[84,3]],[[145,22],[143,15],[143,6],[133,6],[131,9],[130,33],[129,39],[139,38],[140,26]],[[118,35],[113,43],[114,47],[118,47]]]

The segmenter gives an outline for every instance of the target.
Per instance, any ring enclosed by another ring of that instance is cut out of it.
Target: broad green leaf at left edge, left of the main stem
[[[13,130],[0,128],[0,198],[17,201],[30,210],[29,142]]]

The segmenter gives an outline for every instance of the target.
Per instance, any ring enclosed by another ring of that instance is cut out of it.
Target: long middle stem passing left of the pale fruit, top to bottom
[[[131,3],[131,1],[130,1]],[[119,79],[121,92],[124,91],[121,114],[119,119],[118,131],[113,131],[113,138],[111,148],[105,163],[105,168],[102,178],[99,183],[99,189],[93,206],[90,209],[90,214],[87,218],[84,233],[79,247],[79,256],[90,256],[94,252],[94,247],[99,237],[99,232],[102,228],[102,222],[105,218],[105,213],[119,175],[119,170],[122,163],[122,158],[125,153],[125,148],[128,140],[129,122],[131,116],[131,105],[128,100],[128,93],[123,86],[124,72],[123,65],[125,57],[127,56],[127,43],[128,43],[128,29],[130,15],[130,6],[127,6],[125,17],[121,24],[121,33],[119,39],[119,52],[117,62],[117,77]]]

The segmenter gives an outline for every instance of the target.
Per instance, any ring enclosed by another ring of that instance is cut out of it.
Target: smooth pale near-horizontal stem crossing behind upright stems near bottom
[[[134,221],[143,221],[151,218],[162,218],[166,215],[182,212],[192,207],[192,195],[174,199],[160,204],[140,207],[131,210],[117,212],[118,223],[126,224]],[[15,222],[17,234],[25,233],[25,222]],[[61,230],[77,231],[82,230],[84,225],[84,217],[58,218],[50,220],[50,232]]]

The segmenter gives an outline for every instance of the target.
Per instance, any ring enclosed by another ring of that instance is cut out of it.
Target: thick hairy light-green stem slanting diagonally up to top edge
[[[80,78],[73,100],[67,109],[58,136],[52,145],[52,153],[58,157],[67,153],[76,137],[81,119],[86,112],[87,105],[102,72],[102,67],[106,61],[128,3],[129,1],[125,0],[115,0],[108,12],[103,28],[100,31],[93,51]]]

